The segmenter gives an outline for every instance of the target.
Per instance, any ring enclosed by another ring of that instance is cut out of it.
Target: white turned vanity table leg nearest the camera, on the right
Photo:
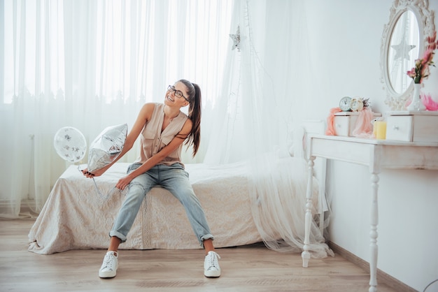
[[[372,186],[372,203],[371,203],[371,231],[369,236],[371,242],[369,249],[371,251],[371,258],[369,260],[369,292],[377,291],[377,224],[379,224],[379,206],[377,203],[377,192],[379,190],[379,175],[378,173],[372,173],[371,175]]]

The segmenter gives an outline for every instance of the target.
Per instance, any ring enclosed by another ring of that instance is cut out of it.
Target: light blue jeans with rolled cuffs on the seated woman
[[[127,173],[140,166],[141,163],[131,164]],[[204,240],[213,240],[204,210],[202,210],[201,203],[199,203],[193,191],[189,175],[181,163],[174,163],[171,166],[158,164],[150,168],[146,173],[135,177],[129,183],[129,191],[115,219],[113,229],[109,233],[110,236],[116,236],[122,242],[126,241],[127,234],[132,224],[134,224],[134,219],[139,212],[143,198],[146,197],[150,189],[157,185],[170,191],[183,204],[199,244],[203,246]]]

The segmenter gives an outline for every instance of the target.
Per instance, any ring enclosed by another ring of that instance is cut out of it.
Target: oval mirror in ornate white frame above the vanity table
[[[395,0],[390,21],[383,28],[381,40],[381,82],[386,89],[390,110],[405,110],[414,85],[407,71],[423,54],[426,38],[435,31],[433,12],[428,0],[414,5],[409,0]]]

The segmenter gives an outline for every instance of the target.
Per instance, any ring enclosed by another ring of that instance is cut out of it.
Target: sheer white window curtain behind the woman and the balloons
[[[61,127],[75,127],[89,145],[106,126],[131,126],[143,103],[162,102],[181,78],[199,84],[211,106],[229,48],[229,3],[2,1],[1,106],[11,136],[3,143],[13,152],[4,157],[10,189],[0,193],[0,217],[41,210],[69,166],[53,147]],[[202,152],[186,159],[202,161]],[[123,161],[137,155],[134,147]]]

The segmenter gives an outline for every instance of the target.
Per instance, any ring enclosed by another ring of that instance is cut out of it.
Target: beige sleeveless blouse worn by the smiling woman
[[[140,135],[140,156],[135,162],[144,163],[150,159],[153,155],[160,152],[164,146],[168,145],[172,139],[176,136],[181,129],[188,116],[183,112],[179,112],[179,115],[171,120],[169,126],[161,131],[164,120],[164,103],[155,103],[154,111],[150,121],[146,122]],[[171,152],[166,158],[160,161],[158,164],[165,164],[170,166],[176,162],[181,163],[181,149],[183,143]]]

